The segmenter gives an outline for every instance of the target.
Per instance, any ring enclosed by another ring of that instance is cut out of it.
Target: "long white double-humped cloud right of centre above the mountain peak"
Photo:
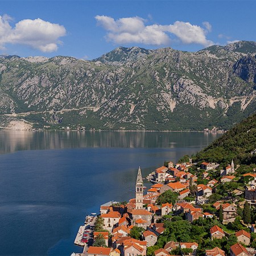
[[[206,38],[207,32],[212,28],[209,22],[203,22],[205,30],[189,22],[180,21],[170,25],[152,24],[146,26],[146,20],[138,16],[117,20],[104,15],[97,15],[95,18],[98,26],[108,31],[106,39],[117,44],[167,45],[171,42],[170,35],[175,35],[184,44],[197,43],[203,44],[203,46],[213,44],[212,41]]]

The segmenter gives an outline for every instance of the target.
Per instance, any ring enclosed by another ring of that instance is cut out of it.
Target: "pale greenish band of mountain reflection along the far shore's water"
[[[193,136],[191,136],[193,134]],[[0,154],[78,147],[204,147],[218,134],[145,131],[0,131]]]

